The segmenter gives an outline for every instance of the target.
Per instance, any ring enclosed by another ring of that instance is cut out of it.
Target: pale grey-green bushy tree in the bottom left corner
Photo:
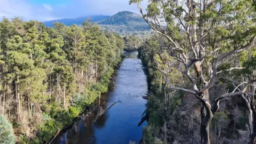
[[[4,115],[0,115],[0,143],[15,143],[14,130]]]

